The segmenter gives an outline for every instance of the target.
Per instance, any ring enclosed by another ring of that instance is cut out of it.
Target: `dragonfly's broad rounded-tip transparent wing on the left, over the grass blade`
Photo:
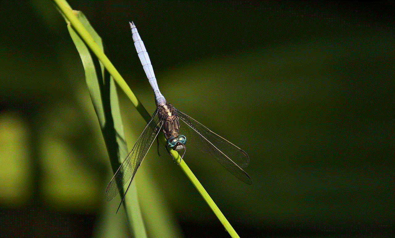
[[[107,201],[113,199],[115,195],[119,193],[120,188],[122,188],[130,178],[133,180],[137,169],[139,169],[141,162],[151,147],[152,142],[154,142],[161,127],[162,121],[158,119],[158,111],[155,111],[151,120],[147,123],[147,126],[145,126],[143,132],[141,132],[141,135],[134,144],[133,149],[129,152],[128,156],[126,156],[108,184],[107,189],[105,189],[105,199]]]

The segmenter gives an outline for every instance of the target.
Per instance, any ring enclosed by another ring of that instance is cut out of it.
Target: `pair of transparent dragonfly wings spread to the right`
[[[179,119],[190,127],[183,128],[180,126],[180,133],[182,134],[185,131],[187,145],[188,141],[194,141],[194,144],[198,146],[201,151],[211,154],[234,176],[246,184],[252,183],[250,176],[241,169],[241,167],[246,167],[248,163],[250,163],[250,158],[244,150],[220,137],[190,116],[177,109],[176,111]]]

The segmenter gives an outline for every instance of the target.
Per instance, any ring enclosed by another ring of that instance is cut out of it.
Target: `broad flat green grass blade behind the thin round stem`
[[[75,11],[75,13],[85,28],[88,29],[88,32],[94,38],[95,42],[103,49],[101,38],[96,34],[92,26],[90,26],[85,16],[81,12]],[[99,60],[95,56],[91,56],[87,46],[70,24],[68,24],[68,30],[83,62],[86,82],[102,129],[111,166],[113,171],[116,171],[120,162],[128,154],[128,150],[124,139],[124,130],[115,82]],[[123,188],[121,188],[120,194],[123,194]],[[147,237],[137,201],[135,186],[130,188],[128,201],[124,203],[124,206],[131,232],[135,237]]]

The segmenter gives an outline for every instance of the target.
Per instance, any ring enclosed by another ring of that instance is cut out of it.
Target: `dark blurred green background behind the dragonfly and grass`
[[[69,4],[150,113],[129,21],[167,101],[249,154],[251,186],[185,157],[241,237],[393,237],[393,1]],[[119,198],[104,201],[109,160],[64,19],[50,1],[0,9],[0,235],[129,236]],[[145,122],[119,97],[131,148]],[[166,237],[148,225],[160,203],[185,237],[228,237],[160,154],[136,176],[149,236]]]

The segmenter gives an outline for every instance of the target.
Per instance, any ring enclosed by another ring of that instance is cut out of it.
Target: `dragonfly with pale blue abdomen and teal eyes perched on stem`
[[[197,147],[201,151],[211,154],[211,156],[213,156],[234,176],[246,184],[251,184],[250,176],[241,169],[242,167],[246,167],[250,162],[250,159],[244,150],[220,137],[213,131],[207,129],[207,127],[166,102],[165,97],[159,91],[148,52],[145,49],[139,33],[137,32],[137,28],[133,22],[129,23],[132,30],[134,46],[149,83],[154,90],[157,108],[143,129],[143,132],[141,132],[141,135],[135,142],[132,150],[129,152],[128,156],[126,156],[122,164],[119,166],[119,169],[115,172],[113,178],[109,182],[105,191],[106,200],[111,201],[111,199],[119,193],[120,189],[122,189],[126,182],[130,180],[128,188],[119,204],[119,210],[141,162],[161,130],[164,132],[167,140],[165,146],[167,152],[169,152],[169,150],[176,150],[182,159],[186,152],[185,144],[188,138],[188,141],[198,143]]]

